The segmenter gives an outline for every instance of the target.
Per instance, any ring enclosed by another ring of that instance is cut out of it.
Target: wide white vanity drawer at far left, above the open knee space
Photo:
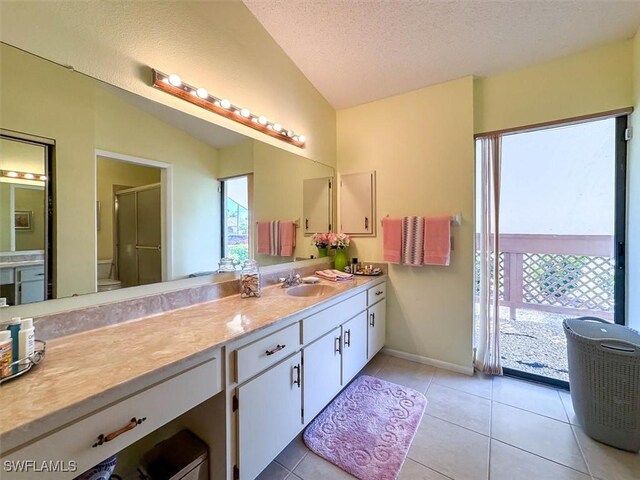
[[[220,358],[219,355],[217,358]],[[46,473],[43,478],[74,478],[140,438],[182,415],[222,389],[220,361],[214,358],[191,370],[133,395],[125,400],[91,414],[62,430],[2,457],[2,480],[28,480],[38,476],[33,470],[10,471],[7,465],[19,461],[60,461],[67,472]],[[46,399],[43,399],[46,401]],[[111,441],[93,447],[99,435],[124,430],[132,419],[146,419],[130,430],[123,431]],[[71,462],[77,469],[69,473]]]

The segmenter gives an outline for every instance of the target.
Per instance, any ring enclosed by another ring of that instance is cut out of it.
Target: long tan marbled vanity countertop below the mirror
[[[0,387],[1,450],[12,450],[198,365],[232,340],[382,278],[322,281],[334,287],[322,297],[292,297],[272,286],[259,298],[232,295],[51,340],[42,364]]]

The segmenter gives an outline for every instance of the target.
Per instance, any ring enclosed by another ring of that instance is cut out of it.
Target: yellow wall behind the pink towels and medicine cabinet
[[[462,212],[450,267],[390,266],[386,346],[469,368],[473,79],[341,110],[337,135],[340,173],[376,171],[378,218]],[[349,255],[382,261],[381,233],[355,238]]]

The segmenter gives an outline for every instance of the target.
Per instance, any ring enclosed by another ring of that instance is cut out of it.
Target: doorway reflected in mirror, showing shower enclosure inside
[[[170,167],[97,152],[97,291],[170,278]]]

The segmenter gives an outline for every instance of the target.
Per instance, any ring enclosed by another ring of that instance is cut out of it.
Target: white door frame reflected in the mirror
[[[125,153],[115,153],[108,150],[95,151],[95,171],[98,171],[98,157],[108,160],[116,160],[119,162],[133,163],[145,167],[156,167],[161,169],[160,174],[160,193],[162,196],[160,202],[160,216],[162,225],[162,281],[167,282],[173,280],[173,165],[170,163],[159,162],[158,160],[150,160],[148,158],[135,157]],[[94,203],[98,200],[98,188],[94,189]],[[94,218],[94,223],[97,220]],[[94,230],[97,224],[94,225]],[[98,259],[98,242],[95,245],[96,262]]]

